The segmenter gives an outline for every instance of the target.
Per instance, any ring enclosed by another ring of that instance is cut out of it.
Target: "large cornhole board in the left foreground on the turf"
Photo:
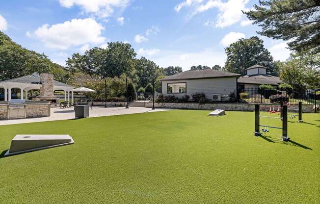
[[[74,144],[68,134],[17,134],[4,156]]]

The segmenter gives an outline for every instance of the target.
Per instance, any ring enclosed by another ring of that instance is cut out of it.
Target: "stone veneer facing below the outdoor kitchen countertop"
[[[38,118],[50,116],[50,103],[25,104],[27,118]],[[8,119],[8,105],[0,104],[0,120]]]

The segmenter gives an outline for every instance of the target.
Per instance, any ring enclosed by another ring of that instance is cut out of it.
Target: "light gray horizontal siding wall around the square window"
[[[236,92],[237,78],[225,77],[225,78],[206,78],[206,79],[190,79],[190,80],[171,80],[162,81],[162,94],[174,95],[176,97],[182,97],[184,93],[168,94],[168,83],[187,83],[187,95],[191,97],[194,93],[205,93],[208,99],[212,99],[213,94],[228,95],[231,92]]]

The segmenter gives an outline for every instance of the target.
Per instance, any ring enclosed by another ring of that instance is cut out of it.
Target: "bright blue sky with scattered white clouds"
[[[241,10],[258,0],[1,0],[0,30],[64,65],[74,52],[129,42],[162,67],[224,65],[225,47],[260,28]],[[260,36],[275,59],[286,43]]]

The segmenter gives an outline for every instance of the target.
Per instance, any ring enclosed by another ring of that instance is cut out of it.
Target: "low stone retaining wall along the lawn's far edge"
[[[280,107],[279,104],[262,104],[263,106],[272,106],[272,107]],[[146,107],[151,108],[152,102],[146,103]],[[254,111],[255,104],[253,103],[179,103],[179,102],[163,102],[158,103],[155,102],[156,108],[179,108],[179,109],[196,109],[196,110],[215,110],[215,109],[223,109],[223,110],[236,110],[236,111]],[[297,109],[297,105],[295,107],[291,106],[290,108]],[[265,108],[266,111],[269,111],[269,108]],[[275,108],[275,111],[277,109]],[[297,110],[289,110],[290,112],[298,112]],[[302,112],[304,113],[313,113],[314,105],[302,105]]]

